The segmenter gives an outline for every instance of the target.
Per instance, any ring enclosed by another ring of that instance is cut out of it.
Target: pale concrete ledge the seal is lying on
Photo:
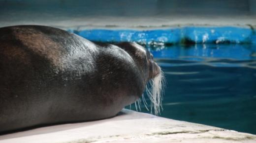
[[[0,143],[256,143],[256,135],[124,109],[111,119],[36,128]]]

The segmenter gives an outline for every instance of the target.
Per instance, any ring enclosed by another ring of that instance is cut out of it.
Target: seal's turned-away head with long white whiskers
[[[143,77],[146,93],[151,100],[151,112],[154,110],[154,113],[158,115],[161,109],[162,87],[164,86],[164,76],[160,66],[154,61],[152,53],[136,43],[123,42],[116,45],[127,51],[136,63]],[[147,104],[143,95],[142,99],[144,104]]]

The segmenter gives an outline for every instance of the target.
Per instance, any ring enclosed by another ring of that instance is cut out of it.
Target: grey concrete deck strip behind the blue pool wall
[[[245,26],[256,27],[256,16],[152,16],[152,17],[54,17],[47,19],[6,17],[0,21],[0,27],[21,24],[36,24],[59,27],[62,29],[160,29],[177,26]]]

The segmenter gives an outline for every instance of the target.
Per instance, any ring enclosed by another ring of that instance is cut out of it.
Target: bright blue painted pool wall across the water
[[[256,31],[251,27],[185,26],[165,29],[84,29],[68,30],[88,40],[99,42],[138,42],[144,45],[195,44],[256,44]]]

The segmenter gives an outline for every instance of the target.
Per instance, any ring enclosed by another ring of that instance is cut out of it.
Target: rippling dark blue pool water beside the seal
[[[166,78],[160,117],[256,134],[256,45],[148,49]]]

